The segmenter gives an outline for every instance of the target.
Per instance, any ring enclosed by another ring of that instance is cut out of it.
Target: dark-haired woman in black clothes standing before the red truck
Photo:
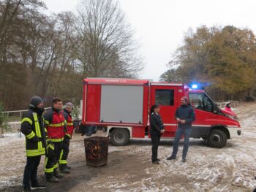
[[[157,158],[157,150],[160,142],[161,134],[165,132],[164,124],[162,123],[162,118],[159,115],[159,106],[153,105],[151,107],[150,116],[150,135],[152,141],[152,163],[159,164],[159,158]]]

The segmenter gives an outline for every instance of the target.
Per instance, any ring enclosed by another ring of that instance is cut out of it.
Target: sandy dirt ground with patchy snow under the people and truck
[[[46,183],[44,157],[39,181],[44,191],[253,191],[256,188],[256,104],[242,103],[235,112],[242,136],[222,149],[207,147],[203,139],[191,139],[187,163],[181,162],[181,142],[176,161],[167,161],[173,140],[162,140],[159,165],[151,164],[150,139],[131,139],[124,147],[109,147],[108,165],[86,166],[83,139],[75,134],[69,166],[59,183]],[[99,133],[98,133],[99,134]],[[12,134],[0,139],[0,191],[22,191],[26,164],[24,137]],[[42,191],[42,190],[41,190]]]

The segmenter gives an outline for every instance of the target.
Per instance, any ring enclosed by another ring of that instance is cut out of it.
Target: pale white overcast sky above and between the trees
[[[72,11],[80,0],[43,0],[49,12]],[[256,31],[253,0],[119,0],[135,29],[145,69],[140,78],[159,80],[188,28],[233,25]]]

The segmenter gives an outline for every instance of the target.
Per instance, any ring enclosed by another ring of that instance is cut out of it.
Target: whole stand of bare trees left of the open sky
[[[0,101],[27,107],[35,94],[80,99],[84,77],[136,77],[138,45],[116,1],[82,1],[78,15],[45,15],[41,0],[0,0]],[[46,102],[47,103],[47,102]]]

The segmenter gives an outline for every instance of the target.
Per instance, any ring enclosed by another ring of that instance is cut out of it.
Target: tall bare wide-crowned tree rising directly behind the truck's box
[[[83,0],[76,23],[76,58],[89,77],[135,77],[143,69],[138,45],[113,0]]]

